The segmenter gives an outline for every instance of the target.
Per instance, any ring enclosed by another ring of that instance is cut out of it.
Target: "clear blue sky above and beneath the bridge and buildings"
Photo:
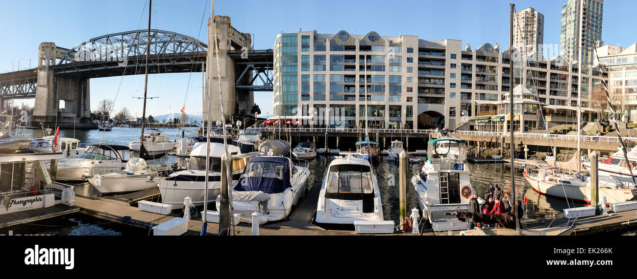
[[[92,37],[115,32],[145,29],[147,0],[111,1],[8,1],[0,0],[0,72],[35,67],[38,45],[54,42],[72,48]],[[253,1],[217,0],[215,14],[231,17],[240,32],[254,34],[255,48],[274,45],[276,34],[317,29],[335,34],[347,30],[351,34],[376,31],[381,36],[418,35],[420,39],[459,39],[473,48],[483,43],[508,45],[510,1]],[[557,1],[513,1],[517,10],[529,6],[543,13],[544,43],[559,44],[562,4]],[[210,17],[210,0],[155,0],[152,27],[199,36],[207,42],[206,20]],[[630,27],[637,2],[606,0],[604,4],[602,40],[629,46],[637,41],[637,31]],[[201,18],[204,16],[203,27]],[[199,28],[201,27],[201,34]],[[191,78],[190,85],[188,84]],[[118,92],[118,85],[122,86]],[[115,112],[127,107],[141,116],[143,76],[99,78],[90,80],[91,108],[103,99],[115,100]],[[117,99],[115,95],[117,94]],[[188,94],[186,94],[188,92]],[[148,114],[178,112],[186,102],[190,114],[201,113],[201,74],[161,74],[148,78]],[[186,100],[187,96],[187,100]],[[29,104],[33,100],[25,101]],[[261,111],[272,112],[272,93],[256,92],[255,102]],[[20,101],[18,100],[18,104]]]

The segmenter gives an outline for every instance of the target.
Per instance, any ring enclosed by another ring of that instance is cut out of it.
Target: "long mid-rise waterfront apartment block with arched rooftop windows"
[[[492,118],[508,111],[502,101],[510,91],[508,49],[500,50],[498,44],[472,49],[454,39],[385,37],[376,32],[280,34],[275,42],[275,118],[362,127],[367,100],[368,125],[378,128],[469,125],[466,128],[505,131],[512,121],[516,130],[533,130],[543,125],[530,115],[538,114],[537,107],[549,114],[549,125],[576,122],[576,65],[537,52],[514,55],[514,84],[523,85],[520,92],[538,92],[539,100],[535,107],[516,102],[513,120],[497,118],[506,124],[495,125]],[[600,82],[598,76],[601,72],[591,67],[582,71],[584,119],[596,116],[591,115],[589,94]]]

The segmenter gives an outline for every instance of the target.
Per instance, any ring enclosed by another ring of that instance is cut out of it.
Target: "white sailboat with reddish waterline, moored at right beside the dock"
[[[589,175],[571,175],[553,166],[541,166],[536,170],[525,166],[524,178],[531,184],[533,190],[540,194],[590,203]],[[634,185],[628,186],[609,177],[600,176],[598,185],[599,196],[606,196],[606,204],[628,201],[637,194]]]

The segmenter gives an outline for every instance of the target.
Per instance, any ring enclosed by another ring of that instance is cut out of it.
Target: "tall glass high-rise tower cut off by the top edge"
[[[601,24],[604,13],[604,0],[582,0],[585,4],[582,30],[582,61],[593,62],[593,48],[601,42]],[[569,61],[578,58],[580,37],[580,0],[568,0],[562,6],[560,30],[560,56]]]

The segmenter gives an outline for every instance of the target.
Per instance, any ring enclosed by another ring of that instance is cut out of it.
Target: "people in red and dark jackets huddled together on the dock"
[[[478,203],[478,194],[474,194],[473,198],[469,200],[469,208],[471,208],[472,214],[506,214],[506,216],[504,217],[515,219],[516,210],[513,209],[513,200],[511,197],[511,193],[506,192],[503,194],[503,191],[499,185],[496,184],[496,186],[493,186],[492,183],[489,183],[487,193],[485,193],[484,195],[484,200],[485,203],[483,203],[482,207],[480,207],[480,203]],[[517,207],[517,214],[519,217],[521,217],[523,214],[522,203],[520,201],[515,201],[515,205]],[[497,218],[501,216],[492,217]],[[520,218],[518,218],[518,220],[519,219]],[[477,224],[477,226],[482,226],[482,228],[487,228],[489,227],[489,225],[490,224],[480,224],[480,222],[478,222]]]

